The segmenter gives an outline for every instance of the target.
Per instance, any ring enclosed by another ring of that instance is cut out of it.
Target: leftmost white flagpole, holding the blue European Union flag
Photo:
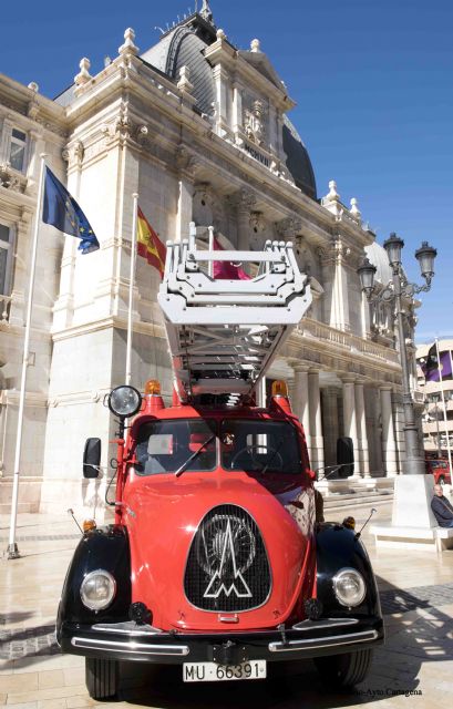
[[[30,284],[29,284],[29,297],[27,302],[27,318],[25,318],[25,335],[23,339],[23,359],[22,359],[22,377],[20,382],[20,395],[19,395],[19,412],[18,412],[18,431],[16,436],[16,454],[14,454],[14,477],[12,484],[12,500],[11,500],[11,522],[10,522],[10,535],[7,549],[7,556],[9,559],[19,558],[19,549],[16,543],[16,526],[18,520],[18,502],[19,502],[19,474],[20,474],[20,455],[22,445],[22,428],[23,428],[23,411],[25,407],[25,386],[27,386],[27,370],[29,366],[29,346],[30,346],[30,329],[31,329],[31,309],[33,305],[33,290],[34,290],[34,275],[37,270],[37,253],[38,253],[38,233],[41,220],[42,212],[42,193],[44,185],[44,169],[47,157],[45,153],[40,154],[40,178],[38,187],[38,203],[37,214],[34,217],[34,234],[31,251],[31,268],[30,268]]]

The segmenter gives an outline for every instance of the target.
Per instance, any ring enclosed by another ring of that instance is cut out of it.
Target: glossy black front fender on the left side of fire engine
[[[90,572],[103,568],[116,580],[116,594],[104,610],[90,610],[80,596],[83,578]],[[64,580],[56,618],[56,638],[60,641],[64,623],[120,623],[128,619],[131,606],[131,554],[127,533],[120,525],[110,525],[87,532],[81,538]]]

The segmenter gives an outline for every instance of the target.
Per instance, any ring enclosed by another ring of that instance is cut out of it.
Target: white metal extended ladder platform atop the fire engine
[[[167,242],[157,296],[178,394],[251,394],[282,342],[311,304],[309,279],[292,244],[267,242],[264,251],[207,250],[188,239]],[[248,280],[214,278],[214,261],[258,266]]]

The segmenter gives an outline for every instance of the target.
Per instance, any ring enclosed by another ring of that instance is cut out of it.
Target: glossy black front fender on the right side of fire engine
[[[367,549],[352,530],[340,524],[320,524],[316,535],[317,597],[323,617],[381,617],[378,585]],[[333,592],[333,576],[344,567],[354,568],[364,579],[367,594],[353,608],[341,605]]]

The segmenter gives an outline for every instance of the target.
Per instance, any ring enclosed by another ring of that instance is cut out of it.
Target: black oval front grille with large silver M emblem
[[[210,510],[188,554],[187,599],[203,610],[249,610],[268,598],[270,582],[265,545],[253,517],[236,505]]]

